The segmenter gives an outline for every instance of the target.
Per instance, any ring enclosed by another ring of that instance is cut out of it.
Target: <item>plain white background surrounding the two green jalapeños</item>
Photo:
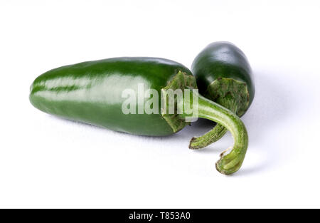
[[[0,4],[1,207],[320,207],[319,1],[4,1]],[[242,168],[215,170],[230,134],[201,151],[199,121],[166,138],[41,113],[41,73],[116,56],[190,68],[208,43],[245,52],[256,95]]]

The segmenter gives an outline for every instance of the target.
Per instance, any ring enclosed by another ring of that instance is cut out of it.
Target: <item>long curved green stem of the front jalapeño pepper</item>
[[[234,139],[233,149],[228,155],[224,155],[225,152],[221,153],[220,160],[216,162],[215,167],[225,175],[233,174],[240,169],[247,152],[248,137],[245,125],[230,110],[198,95],[194,91],[191,94],[193,95],[192,97],[183,97],[183,103],[178,103],[178,109],[182,111],[181,118],[190,118],[191,116],[194,118],[206,118],[223,125],[230,131]],[[186,104],[195,106],[196,103],[193,104],[195,96],[198,98],[198,114],[188,115],[185,111]]]

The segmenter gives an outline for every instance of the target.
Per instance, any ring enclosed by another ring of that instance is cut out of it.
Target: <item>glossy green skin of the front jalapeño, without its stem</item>
[[[31,103],[45,113],[136,135],[171,135],[175,132],[158,114],[124,114],[125,89],[138,93],[155,89],[160,95],[178,71],[192,76],[185,66],[163,58],[109,58],[55,68],[31,85]],[[193,88],[196,88],[194,83]],[[138,98],[138,95],[137,95]],[[138,101],[137,101],[138,103]],[[146,98],[140,103],[146,103]],[[160,108],[160,106],[159,106]]]

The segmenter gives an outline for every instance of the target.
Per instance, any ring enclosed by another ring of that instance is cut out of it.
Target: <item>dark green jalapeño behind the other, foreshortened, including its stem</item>
[[[223,105],[239,117],[245,114],[255,95],[252,71],[245,54],[228,42],[210,43],[193,61],[191,71],[196,76],[199,93]],[[189,147],[199,149],[219,140],[227,130],[220,124]]]

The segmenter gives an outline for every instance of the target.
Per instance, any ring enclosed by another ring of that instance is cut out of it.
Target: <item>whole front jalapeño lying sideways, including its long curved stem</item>
[[[170,89],[196,89],[196,79],[185,66],[162,58],[110,58],[43,73],[31,85],[30,100],[46,113],[137,135],[170,135],[188,125],[187,118],[207,118],[228,128],[235,138],[233,151],[219,160],[218,170],[231,174],[240,168],[247,150],[247,131],[237,115],[195,90],[181,99],[171,95],[176,105],[173,114],[161,109],[161,100],[157,100],[157,113],[139,111],[139,105],[154,98],[151,94],[137,99],[138,108],[132,113],[124,113],[124,92],[133,90],[139,98],[139,85],[145,92],[156,90],[164,100]],[[190,114],[185,105],[193,104],[193,96],[198,98],[198,109]]]

